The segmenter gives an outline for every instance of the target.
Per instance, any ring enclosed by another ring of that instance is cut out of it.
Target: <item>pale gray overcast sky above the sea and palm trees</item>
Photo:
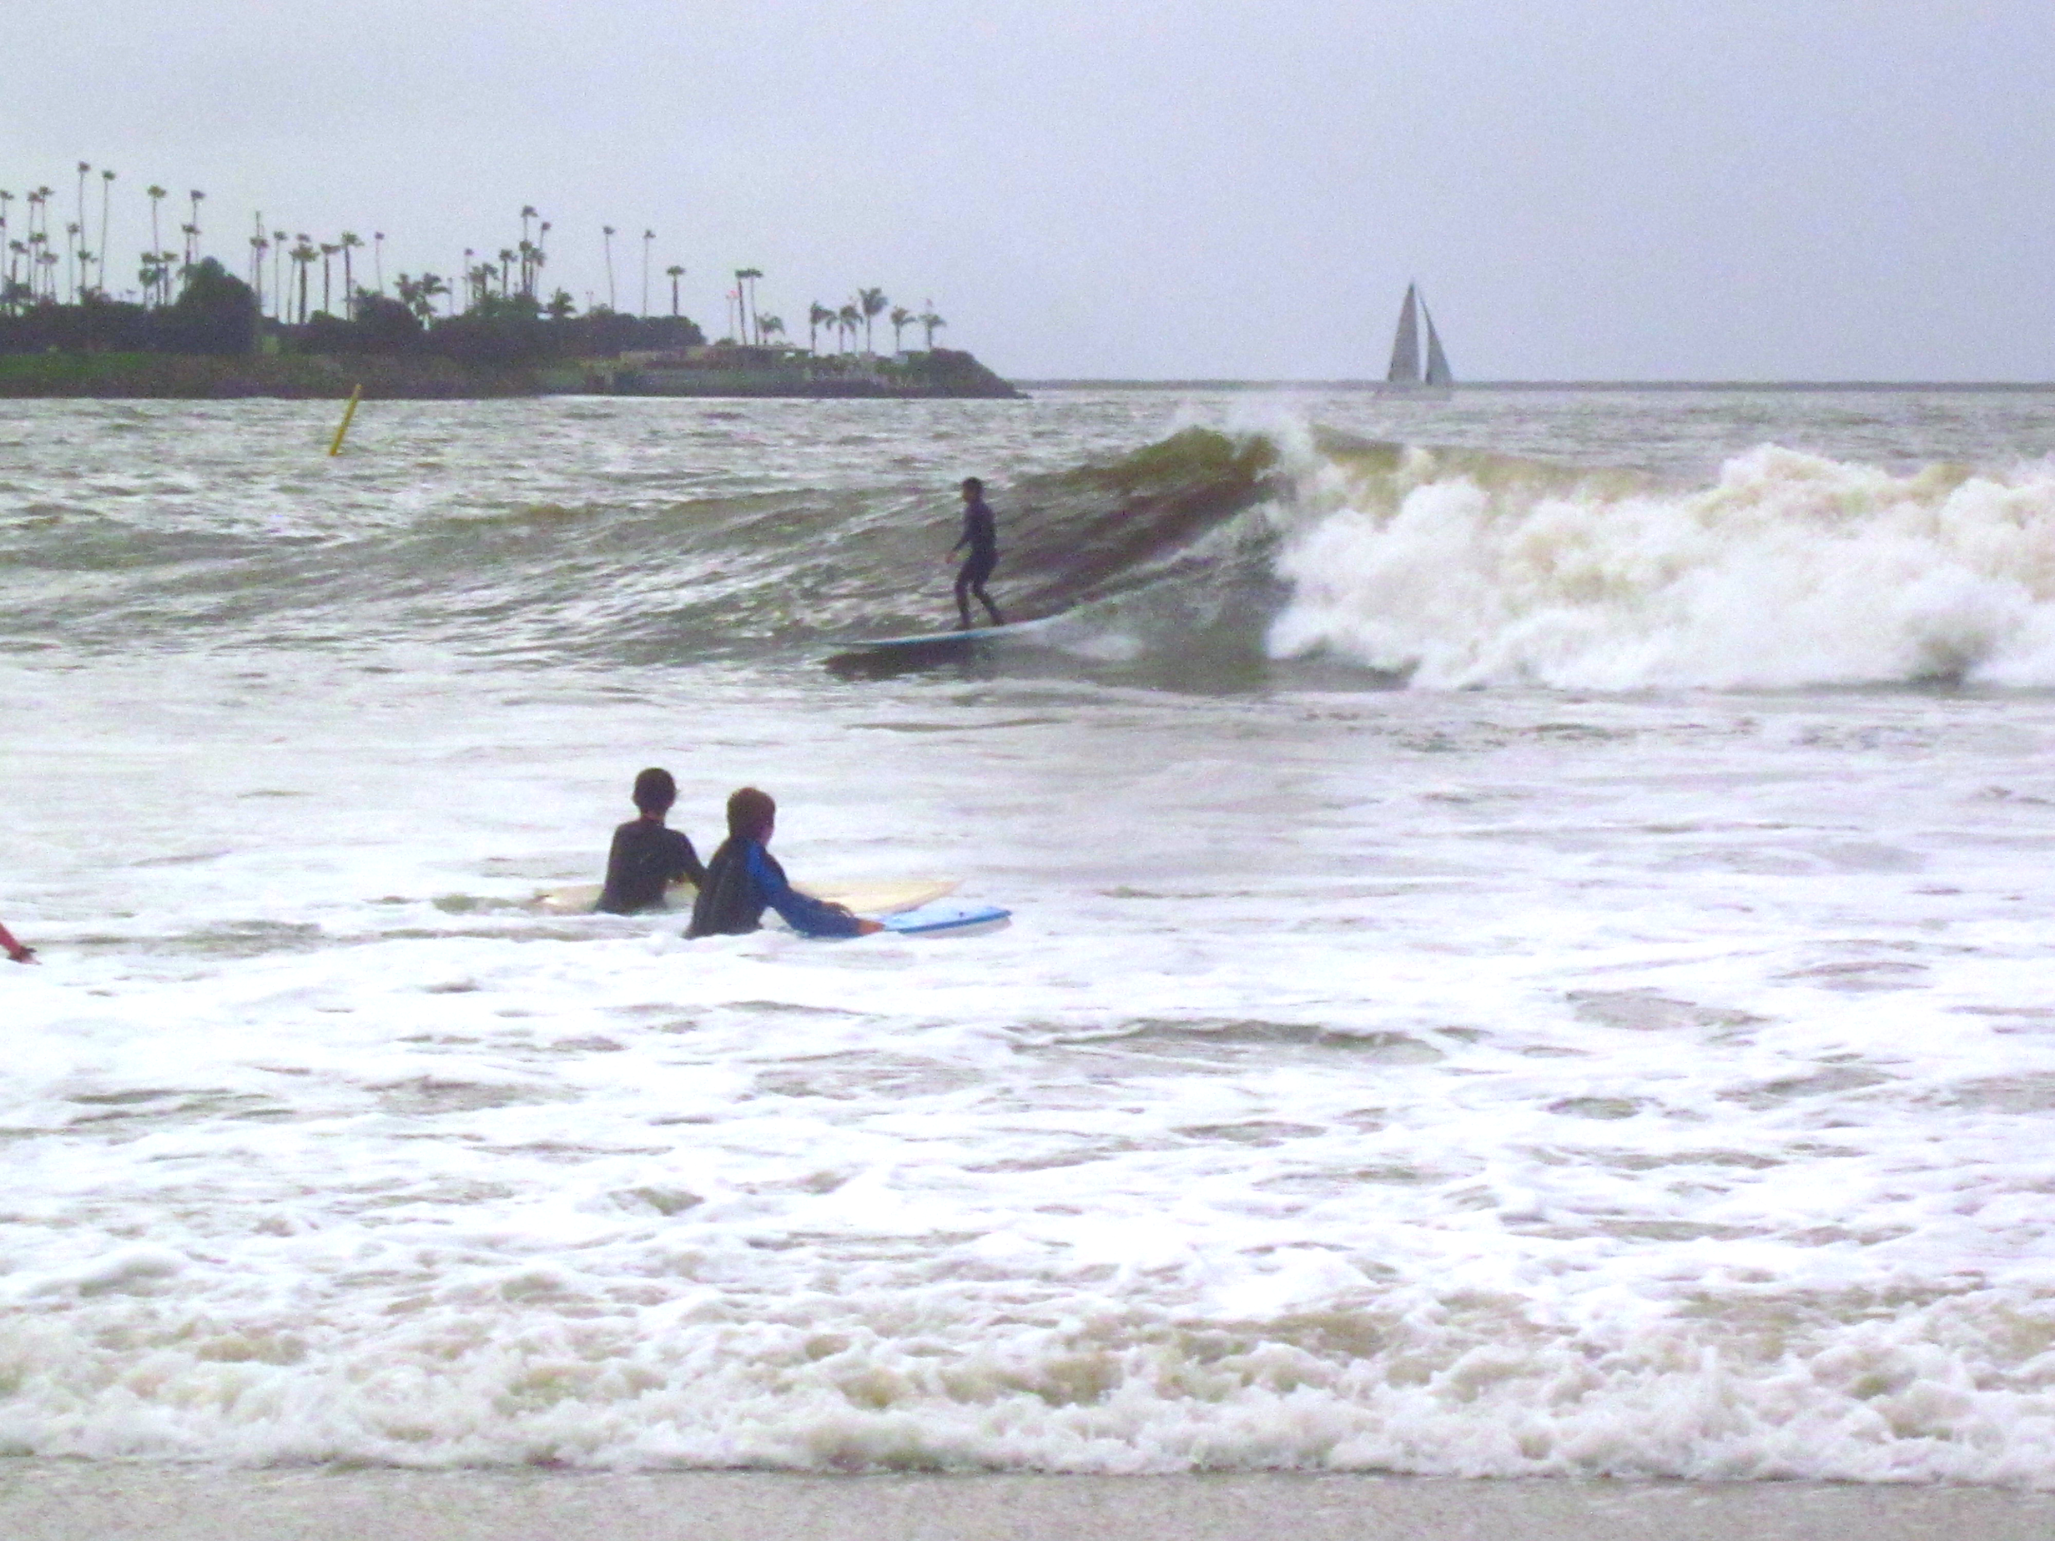
[[[2055,378],[2051,0],[6,14],[0,187],[111,166],[117,253],[152,181],[232,269],[253,210],[390,275],[534,203],[580,302],[653,228],[709,333],[754,265],[801,341],[877,284],[1030,378],[1375,376],[1410,277],[1459,378]]]

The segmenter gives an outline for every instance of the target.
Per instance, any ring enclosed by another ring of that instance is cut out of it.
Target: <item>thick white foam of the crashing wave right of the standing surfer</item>
[[[1280,555],[1276,655],[1420,686],[2055,684],[2049,462],[1893,475],[1759,448],[1695,491],[1428,450],[1319,471],[1342,505]]]

